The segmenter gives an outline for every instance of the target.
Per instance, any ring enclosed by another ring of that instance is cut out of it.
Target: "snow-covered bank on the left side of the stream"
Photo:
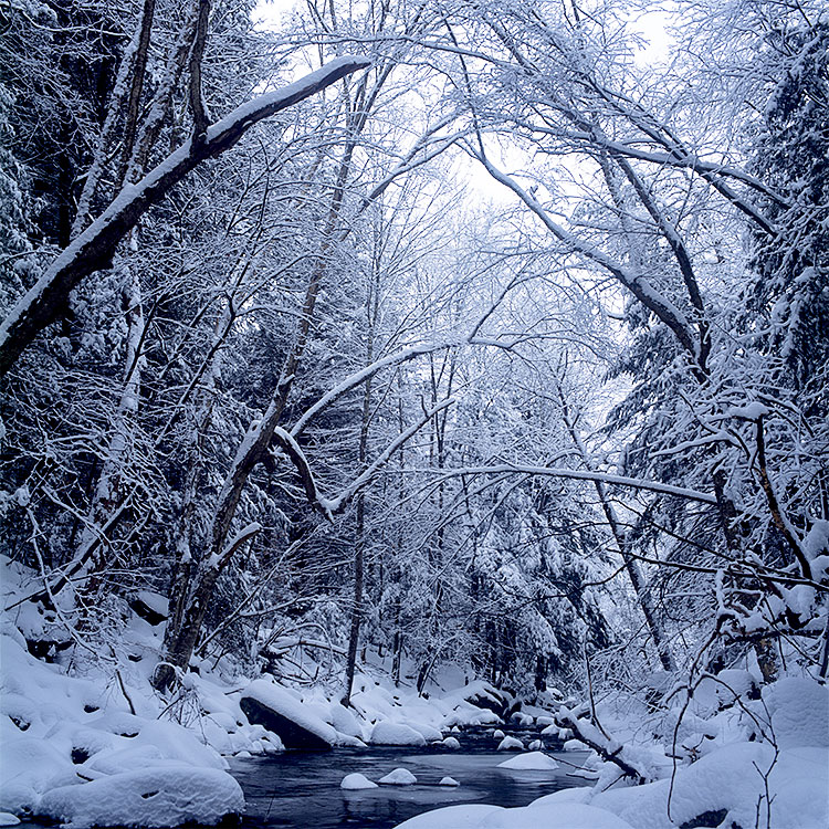
[[[33,573],[0,557],[2,606],[10,608],[0,616],[3,820],[42,816],[73,829],[165,827],[216,823],[240,812],[242,791],[224,757],[282,751],[279,737],[250,724],[240,707],[251,678],[213,672],[206,661],[172,699],[160,697],[149,679],[162,626],[128,610],[108,653],[78,644],[51,654],[53,663],[35,659],[27,638],[49,640],[61,610],[52,618],[32,602],[17,604],[39,587]],[[270,680],[256,686],[335,745],[424,745],[459,724],[497,720],[463,699],[486,693],[485,683],[424,700],[358,674],[353,710],[336,702],[338,690],[297,691]]]

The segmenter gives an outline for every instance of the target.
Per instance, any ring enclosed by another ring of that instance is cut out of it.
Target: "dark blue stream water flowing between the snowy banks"
[[[475,741],[483,743],[484,741]],[[231,773],[248,801],[242,827],[292,827],[296,829],[390,829],[414,815],[463,802],[526,806],[542,795],[585,780],[568,776],[562,763],[578,764],[581,752],[547,752],[559,759],[553,772],[512,772],[497,768],[514,756],[496,752],[497,741],[460,751],[430,748],[369,747],[337,748],[325,754],[286,753],[270,757],[232,759]],[[395,768],[408,768],[418,783],[412,786],[380,786],[345,791],[339,784],[347,774],[359,772],[378,780]],[[455,788],[438,786],[441,777],[453,777]]]

